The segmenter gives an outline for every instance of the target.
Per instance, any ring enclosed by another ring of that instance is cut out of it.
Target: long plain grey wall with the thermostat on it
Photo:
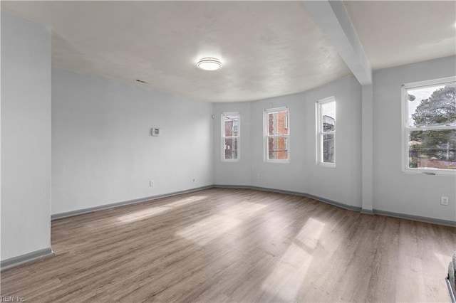
[[[52,85],[53,214],[212,184],[211,103],[59,68]]]

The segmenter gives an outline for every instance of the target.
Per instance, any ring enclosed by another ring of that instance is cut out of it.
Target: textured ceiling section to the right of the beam
[[[374,70],[456,55],[456,1],[343,4]]]

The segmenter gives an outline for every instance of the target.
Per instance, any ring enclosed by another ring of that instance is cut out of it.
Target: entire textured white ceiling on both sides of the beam
[[[53,28],[54,66],[195,100],[289,95],[351,73],[302,1],[0,3]],[[343,4],[374,69],[456,53],[454,1]],[[223,68],[199,70],[207,56]]]

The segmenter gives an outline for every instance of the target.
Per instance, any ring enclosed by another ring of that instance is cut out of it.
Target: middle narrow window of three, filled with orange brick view
[[[264,159],[289,161],[289,112],[288,108],[264,111]]]

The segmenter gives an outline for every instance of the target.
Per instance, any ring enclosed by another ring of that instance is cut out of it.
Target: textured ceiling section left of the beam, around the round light
[[[2,9],[53,28],[53,65],[210,102],[259,100],[350,74],[299,1],[30,1]],[[199,70],[214,56],[223,68]]]

